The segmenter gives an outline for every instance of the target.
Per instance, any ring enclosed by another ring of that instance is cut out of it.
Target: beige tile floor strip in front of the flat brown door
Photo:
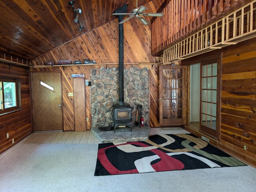
[[[22,143],[81,143],[93,144],[100,141],[91,133],[84,132],[35,132]]]

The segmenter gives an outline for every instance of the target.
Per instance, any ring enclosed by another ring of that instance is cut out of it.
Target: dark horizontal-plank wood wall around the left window
[[[0,116],[0,154],[32,133],[29,69],[0,62],[0,76],[20,78],[22,110]],[[9,133],[9,138],[6,134]],[[14,143],[12,143],[14,139]]]

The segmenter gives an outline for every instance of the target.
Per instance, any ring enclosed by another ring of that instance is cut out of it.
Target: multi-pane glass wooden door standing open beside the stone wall
[[[186,66],[160,66],[160,125],[186,124]]]

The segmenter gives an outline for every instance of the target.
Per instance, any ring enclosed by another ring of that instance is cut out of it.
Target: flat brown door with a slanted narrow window
[[[34,131],[61,131],[61,73],[32,72]]]

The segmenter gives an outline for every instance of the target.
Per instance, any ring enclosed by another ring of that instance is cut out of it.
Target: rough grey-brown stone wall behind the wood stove
[[[119,104],[118,68],[91,69],[92,128],[112,125],[112,106]],[[142,117],[148,124],[148,68],[124,70],[124,103],[130,104],[135,120],[137,104],[142,105]]]

